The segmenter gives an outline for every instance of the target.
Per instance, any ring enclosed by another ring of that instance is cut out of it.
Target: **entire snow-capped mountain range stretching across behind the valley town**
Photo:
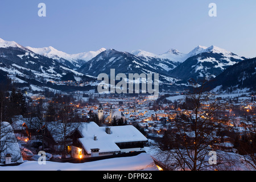
[[[1,71],[16,83],[32,84],[39,90],[51,86],[59,89],[60,86],[49,82],[61,80],[96,82],[100,73],[109,75],[110,69],[115,69],[116,74],[159,73],[159,82],[164,85],[164,90],[179,90],[184,89],[190,79],[198,82],[205,78],[216,79],[226,69],[246,59],[216,46],[197,46],[189,53],[170,49],[160,55],[140,49],[122,52],[105,48],[68,54],[53,47],[23,47],[0,39]],[[91,89],[92,85],[86,89]]]

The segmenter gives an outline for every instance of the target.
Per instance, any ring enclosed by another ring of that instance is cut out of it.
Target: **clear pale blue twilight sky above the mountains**
[[[46,17],[38,4],[46,4]],[[217,17],[210,17],[209,3]],[[256,56],[255,0],[1,0],[0,38],[67,53],[118,51],[160,54],[217,46]]]

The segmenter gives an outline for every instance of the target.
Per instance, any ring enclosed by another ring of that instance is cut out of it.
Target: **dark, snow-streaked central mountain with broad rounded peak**
[[[115,49],[107,49],[100,53],[92,60],[88,61],[78,70],[84,75],[97,77],[100,73],[110,75],[110,69],[115,69],[118,73],[159,73],[160,81],[164,84],[174,84],[177,79],[167,75],[168,69],[174,67],[169,60],[143,59],[143,56],[135,56],[129,52],[116,51]]]

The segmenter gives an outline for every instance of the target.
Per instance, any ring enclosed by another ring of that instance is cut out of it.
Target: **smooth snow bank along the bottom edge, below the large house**
[[[37,161],[25,161],[19,166],[0,167],[0,171],[156,171],[151,156],[146,153],[137,156],[97,160],[86,163],[57,163],[46,161],[39,164]]]

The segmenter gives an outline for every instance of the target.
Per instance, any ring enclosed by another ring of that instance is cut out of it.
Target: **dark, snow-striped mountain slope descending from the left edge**
[[[64,81],[70,78],[81,81],[88,78],[60,61],[3,39],[0,40],[0,71],[2,75],[23,86],[32,84],[51,87],[48,81]]]

